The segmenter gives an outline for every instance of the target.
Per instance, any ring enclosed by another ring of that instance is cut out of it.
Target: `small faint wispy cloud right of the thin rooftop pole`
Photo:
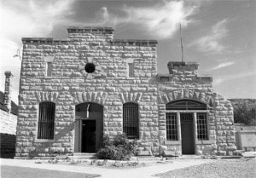
[[[228,29],[226,28],[228,20],[224,19],[218,21],[217,24],[212,26],[212,30],[204,37],[190,43],[189,46],[196,46],[197,49],[204,53],[221,54],[225,48],[222,40],[228,36]]]

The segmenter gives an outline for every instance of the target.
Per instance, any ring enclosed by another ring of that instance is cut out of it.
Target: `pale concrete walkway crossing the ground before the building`
[[[212,159],[175,159],[168,164],[155,164],[148,167],[134,169],[109,169],[99,167],[84,167],[74,165],[60,164],[35,164],[35,160],[19,160],[19,159],[0,159],[1,165],[30,167],[38,169],[52,169],[67,172],[78,172],[87,174],[102,175],[102,178],[149,178],[152,175],[164,173],[173,169],[182,169],[193,165],[205,164],[212,162]]]

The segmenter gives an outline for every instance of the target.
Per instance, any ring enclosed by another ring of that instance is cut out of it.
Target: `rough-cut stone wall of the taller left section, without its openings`
[[[139,104],[140,146],[158,152],[158,91],[156,42],[113,40],[112,29],[68,29],[69,39],[23,38],[20,106],[16,156],[73,153],[75,105],[96,102],[104,106],[105,135],[123,131],[122,105]],[[45,77],[45,58],[52,57],[52,77]],[[133,61],[134,78],[127,77]],[[96,72],[84,71],[92,62]],[[55,102],[54,141],[37,139],[38,104]]]

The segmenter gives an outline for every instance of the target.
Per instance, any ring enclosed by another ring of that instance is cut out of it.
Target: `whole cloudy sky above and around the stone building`
[[[21,37],[67,38],[67,26],[113,26],[114,38],[158,40],[158,71],[181,60],[200,63],[225,98],[256,98],[256,1],[248,0],[8,0],[1,1],[0,90],[14,73],[17,102]],[[21,55],[21,54],[20,54]]]

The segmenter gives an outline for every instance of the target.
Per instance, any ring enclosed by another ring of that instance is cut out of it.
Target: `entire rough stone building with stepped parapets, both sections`
[[[154,155],[232,154],[233,109],[198,64],[157,73],[155,40],[113,28],[69,27],[67,39],[22,38],[16,157],[96,152],[102,134],[137,139]]]

